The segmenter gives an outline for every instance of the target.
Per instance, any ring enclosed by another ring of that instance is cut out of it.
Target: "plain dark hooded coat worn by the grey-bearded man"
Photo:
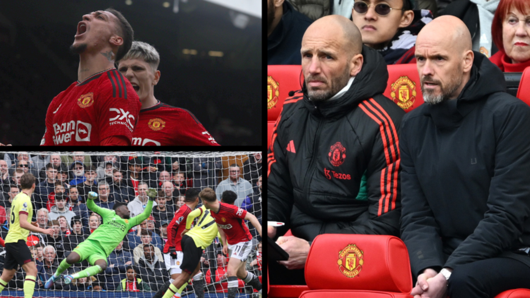
[[[414,275],[530,246],[530,107],[475,52],[457,100],[401,122],[401,238]],[[495,270],[495,268],[492,268]]]

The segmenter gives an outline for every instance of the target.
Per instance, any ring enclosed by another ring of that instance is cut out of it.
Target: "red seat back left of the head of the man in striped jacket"
[[[276,121],[290,91],[302,89],[301,65],[267,66],[267,120]]]

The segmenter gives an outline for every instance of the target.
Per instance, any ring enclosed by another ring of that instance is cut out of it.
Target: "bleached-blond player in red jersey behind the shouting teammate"
[[[118,70],[131,81],[142,103],[132,145],[219,145],[194,114],[156,100],[159,63],[160,55],[145,42],[133,42],[118,61]]]

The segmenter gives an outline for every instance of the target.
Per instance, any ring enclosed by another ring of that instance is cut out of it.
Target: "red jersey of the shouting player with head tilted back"
[[[100,145],[110,136],[131,142],[140,108],[131,83],[116,68],[95,73],[52,100],[40,145]]]

